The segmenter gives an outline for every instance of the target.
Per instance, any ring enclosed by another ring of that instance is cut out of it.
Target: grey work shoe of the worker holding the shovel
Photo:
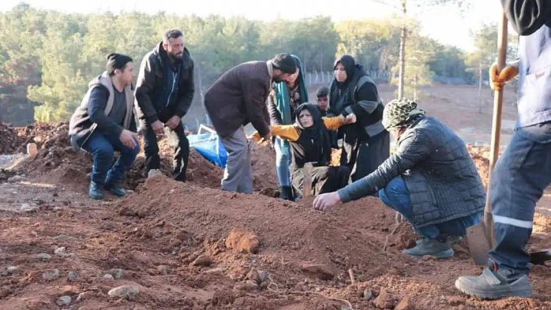
[[[486,299],[532,296],[532,284],[527,274],[498,269],[496,264],[489,264],[479,276],[460,276],[455,287],[467,295]]]

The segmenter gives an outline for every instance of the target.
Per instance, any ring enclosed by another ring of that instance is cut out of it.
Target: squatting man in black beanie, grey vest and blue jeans
[[[118,197],[125,172],[139,152],[132,79],[134,64],[126,55],[107,56],[106,71],[90,81],[82,103],[69,122],[69,139],[77,150],[84,149],[94,157],[89,194],[102,199],[102,189]],[[120,152],[115,164],[114,151]]]

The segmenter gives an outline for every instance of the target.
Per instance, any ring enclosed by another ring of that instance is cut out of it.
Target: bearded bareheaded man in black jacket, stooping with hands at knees
[[[170,144],[175,146],[172,177],[186,181],[190,143],[182,117],[190,110],[194,92],[193,60],[184,47],[182,31],[168,30],[163,41],[143,58],[136,83],[136,109],[144,125],[148,173],[160,169],[157,134],[166,126]]]

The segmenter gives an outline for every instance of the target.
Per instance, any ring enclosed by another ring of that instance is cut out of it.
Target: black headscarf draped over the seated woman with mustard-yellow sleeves
[[[302,110],[308,110],[310,112],[310,115],[312,115],[312,126],[305,128],[300,123],[300,112]],[[320,109],[316,104],[301,104],[298,108],[296,108],[296,120],[295,125],[299,128],[299,141],[310,141],[314,144],[315,150],[307,150],[304,149],[304,154],[302,156],[310,157],[308,154],[311,151],[318,152],[317,158],[305,158],[305,161],[317,161],[320,165],[325,165],[327,162],[331,161],[331,137],[329,136],[329,130],[327,127],[325,127],[325,123],[323,123],[323,119],[321,118],[321,112]],[[305,146],[306,143],[303,143]]]

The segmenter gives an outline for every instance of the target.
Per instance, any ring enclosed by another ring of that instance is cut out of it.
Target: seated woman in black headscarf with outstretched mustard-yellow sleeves
[[[316,104],[301,104],[295,112],[293,125],[272,125],[273,135],[287,139],[291,145],[291,183],[297,193],[304,196],[305,164],[312,164],[312,195],[337,191],[348,183],[350,170],[346,166],[332,167],[331,137],[329,130],[355,122],[355,115],[321,117]],[[258,132],[251,139],[260,141]]]

